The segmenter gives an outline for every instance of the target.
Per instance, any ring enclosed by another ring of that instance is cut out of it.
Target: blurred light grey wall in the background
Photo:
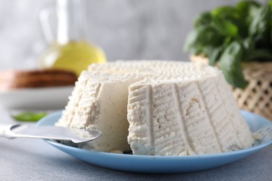
[[[89,40],[116,59],[188,61],[182,51],[197,14],[237,0],[89,0]],[[38,14],[54,0],[0,0],[0,70],[35,68],[47,46]],[[47,6],[46,5],[46,6]]]

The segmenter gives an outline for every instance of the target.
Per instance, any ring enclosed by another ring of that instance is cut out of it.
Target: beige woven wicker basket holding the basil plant
[[[190,56],[190,60],[204,64],[209,62],[202,56]],[[272,120],[272,62],[243,63],[243,73],[248,86],[245,89],[231,86],[239,108]]]

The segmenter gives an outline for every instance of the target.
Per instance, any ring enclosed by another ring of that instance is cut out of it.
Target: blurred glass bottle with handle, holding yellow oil
[[[40,58],[40,67],[71,70],[80,76],[91,63],[104,63],[106,57],[102,49],[88,42],[84,1],[56,2],[56,38],[49,21],[52,12],[42,10],[40,13],[45,38],[50,42]]]

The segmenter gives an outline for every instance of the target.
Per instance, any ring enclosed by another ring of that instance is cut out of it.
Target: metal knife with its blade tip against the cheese
[[[97,129],[77,129],[56,126],[35,127],[31,125],[0,125],[0,137],[6,137],[8,139],[54,139],[82,143],[97,139],[101,134],[102,132]]]

